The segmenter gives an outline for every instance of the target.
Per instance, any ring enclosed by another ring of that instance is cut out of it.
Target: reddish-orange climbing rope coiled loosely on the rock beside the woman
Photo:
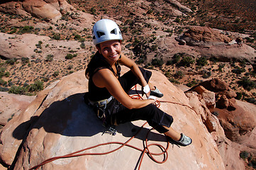
[[[138,90],[137,90],[137,86],[136,86],[136,85],[133,87],[133,89],[134,89],[134,88],[135,88],[135,91],[136,91],[137,94],[131,96],[131,98],[138,98],[138,99],[142,99],[142,100],[143,100],[143,98],[142,98],[142,97],[140,96],[140,94],[138,93]],[[184,104],[182,104],[182,103],[176,103],[176,102],[172,102],[172,101],[156,101],[156,102],[155,102],[155,105],[156,105],[157,107],[160,107],[160,103],[161,103],[161,102],[162,102],[162,103],[174,103],[174,104],[178,104],[178,105],[181,105],[181,106],[187,106],[187,105],[184,105]],[[191,108],[190,106],[187,106],[187,107]],[[193,111],[195,111],[194,108],[191,108],[191,109],[192,109]],[[196,111],[195,111],[195,112],[196,112]],[[146,123],[144,123],[144,124],[141,126],[140,130],[142,130],[145,125],[146,125]],[[138,130],[138,132],[137,132],[135,135],[133,135],[133,137],[130,137],[130,139],[127,140],[126,142],[106,142],[106,143],[102,143],[102,144],[99,144],[99,145],[94,145],[94,146],[92,146],[92,147],[87,147],[87,148],[85,148],[85,149],[81,149],[81,150],[79,150],[79,151],[77,151],[77,152],[72,152],[72,153],[70,153],[70,154],[65,154],[65,155],[60,156],[60,157],[52,157],[52,158],[50,158],[50,159],[46,159],[44,162],[42,162],[42,163],[40,163],[40,164],[38,164],[38,165],[36,165],[36,166],[33,166],[33,167],[30,168],[29,170],[33,170],[33,169],[36,170],[36,169],[38,169],[40,166],[43,166],[43,165],[48,164],[48,163],[50,163],[50,162],[53,162],[53,161],[55,161],[55,160],[57,160],[57,159],[65,159],[65,158],[70,158],[70,157],[81,157],[81,156],[85,156],[85,155],[104,155],[104,154],[110,154],[110,153],[112,153],[112,152],[116,152],[118,149],[121,149],[121,148],[124,147],[124,146],[126,146],[126,147],[131,147],[131,148],[133,148],[133,149],[136,149],[136,150],[142,152],[142,156],[141,156],[141,158],[139,159],[140,164],[139,164],[139,166],[138,166],[138,169],[140,169],[140,166],[141,166],[141,163],[143,162],[143,157],[144,157],[145,154],[148,154],[148,157],[150,157],[150,159],[152,159],[154,162],[157,162],[158,164],[165,163],[165,162],[167,161],[167,159],[168,159],[167,150],[169,149],[169,142],[167,142],[167,146],[166,146],[166,147],[163,147],[162,145],[160,145],[160,144],[158,144],[158,143],[151,143],[151,144],[148,145],[148,135],[150,134],[150,131],[151,131],[152,129],[148,130],[148,134],[147,134],[146,139],[145,139],[145,145],[144,145],[145,147],[144,147],[143,149],[140,149],[140,148],[138,148],[138,147],[135,147],[135,146],[133,146],[133,145],[129,145],[129,144],[128,144],[128,142],[130,142],[131,140],[133,140],[133,138],[136,137],[136,135],[138,135],[138,133],[140,132],[140,130]],[[94,148],[96,148],[96,147],[100,147],[100,146],[104,146],[104,145],[113,145],[113,144],[121,145],[121,146],[120,146],[120,147],[117,147],[116,149],[113,149],[113,150],[111,150],[111,151],[108,151],[108,152],[101,152],[101,153],[99,153],[99,152],[98,152],[98,153],[82,153],[82,154],[81,154],[81,152],[87,151],[87,150],[89,150],[89,149],[94,149]],[[150,152],[149,147],[152,147],[152,146],[160,147],[160,149],[162,150],[162,152],[160,152],[160,153],[152,153],[152,152]],[[164,156],[164,158],[163,158],[162,161],[158,161],[157,159],[155,159],[155,156],[160,156],[160,155],[163,155],[163,156]]]

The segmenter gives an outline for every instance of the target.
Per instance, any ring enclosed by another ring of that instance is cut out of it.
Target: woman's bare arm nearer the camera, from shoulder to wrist
[[[94,74],[92,77],[94,84],[98,87],[108,89],[109,93],[116,98],[123,106],[126,108],[133,109],[133,108],[143,108],[148,106],[150,103],[155,103],[154,100],[147,99],[147,100],[140,100],[130,98],[126,91],[123,90],[123,87],[119,83],[118,79],[113,75],[113,73],[109,69],[101,69]]]

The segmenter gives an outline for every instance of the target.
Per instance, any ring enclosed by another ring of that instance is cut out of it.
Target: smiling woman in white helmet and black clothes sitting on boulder
[[[104,124],[118,125],[134,120],[147,120],[155,130],[164,133],[169,141],[182,146],[190,145],[189,137],[170,127],[172,116],[153,105],[155,98],[152,95],[162,97],[163,94],[149,83],[151,72],[138,67],[123,55],[121,40],[121,31],[115,22],[102,19],[94,24],[93,42],[98,51],[86,69],[89,92],[85,99],[94,106]],[[119,64],[130,68],[122,77]],[[128,91],[135,84],[143,87],[148,99],[140,100],[128,96]]]

